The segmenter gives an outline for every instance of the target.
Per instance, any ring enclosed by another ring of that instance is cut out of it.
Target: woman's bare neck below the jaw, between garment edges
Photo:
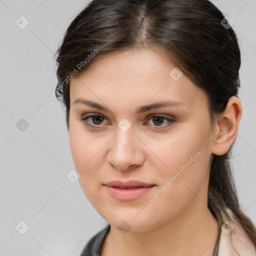
[[[102,244],[101,255],[212,256],[218,223],[206,205],[195,196],[181,214],[143,232],[123,233],[111,225]]]

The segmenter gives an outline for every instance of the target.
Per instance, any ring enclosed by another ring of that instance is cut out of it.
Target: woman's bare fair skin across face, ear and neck
[[[207,208],[212,154],[221,155],[233,143],[241,104],[229,98],[226,110],[210,125],[203,90],[184,74],[174,80],[175,67],[163,49],[143,48],[112,52],[92,62],[70,81],[69,142],[80,186],[93,207],[110,224],[101,255],[211,256],[217,239],[217,221]],[[107,106],[105,112],[76,98]],[[137,107],[158,101],[181,101],[135,114]],[[94,128],[80,119],[88,118]],[[150,114],[172,118],[155,120]],[[118,123],[126,118],[127,131]],[[157,126],[160,125],[160,126]],[[154,195],[175,171],[200,152],[183,173],[153,202]],[[133,201],[113,198],[103,183],[131,179],[156,184]],[[118,226],[126,221],[124,233]]]

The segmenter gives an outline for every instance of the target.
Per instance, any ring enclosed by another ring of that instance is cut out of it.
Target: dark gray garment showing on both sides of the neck
[[[212,256],[218,256],[218,244],[219,244],[219,237],[220,237],[220,230],[221,230],[220,227],[222,223],[221,215],[218,214],[216,219],[218,220],[218,237],[217,237],[215,249]],[[97,232],[86,244],[80,256],[100,256],[100,249],[101,249],[103,240],[109,230],[110,230],[110,225],[108,224],[104,229]]]

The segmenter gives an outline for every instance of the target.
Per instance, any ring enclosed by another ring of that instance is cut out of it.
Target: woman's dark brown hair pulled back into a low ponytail
[[[223,19],[208,0],[92,0],[70,23],[56,52],[55,95],[65,105],[67,128],[71,73],[85,70],[107,52],[153,45],[166,49],[170,60],[205,91],[212,124],[240,86],[237,37],[232,27],[221,24]],[[231,209],[256,247],[255,227],[238,203],[231,147],[213,155],[207,206],[215,217],[219,210],[227,214],[226,208]]]

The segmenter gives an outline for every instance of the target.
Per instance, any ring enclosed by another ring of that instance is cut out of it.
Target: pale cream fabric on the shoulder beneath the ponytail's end
[[[218,256],[255,256],[256,248],[250,241],[242,225],[230,209],[228,216],[221,212],[221,225]]]

